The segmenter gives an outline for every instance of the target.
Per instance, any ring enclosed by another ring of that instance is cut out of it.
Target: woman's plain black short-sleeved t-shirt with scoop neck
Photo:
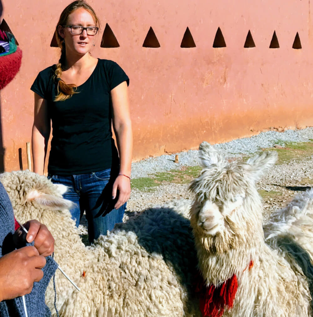
[[[95,70],[78,94],[64,101],[57,95],[55,65],[41,71],[31,90],[46,99],[52,120],[48,172],[53,175],[84,174],[116,167],[118,154],[112,139],[110,91],[129,79],[114,61],[98,59]]]

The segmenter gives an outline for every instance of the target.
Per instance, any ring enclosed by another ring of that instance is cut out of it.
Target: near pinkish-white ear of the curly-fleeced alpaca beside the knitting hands
[[[27,201],[35,201],[37,204],[47,206],[55,210],[70,209],[73,203],[70,200],[44,194],[36,189],[29,191],[26,196]]]

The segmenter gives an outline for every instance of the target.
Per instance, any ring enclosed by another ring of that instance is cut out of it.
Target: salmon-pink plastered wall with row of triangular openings
[[[55,24],[69,1],[4,0],[3,18],[23,50],[20,72],[1,91],[5,169],[27,167],[38,72],[58,60]],[[92,54],[130,77],[134,159],[196,148],[269,128],[312,125],[312,6],[307,1],[92,0],[102,22]],[[101,48],[106,23],[120,47]],[[180,48],[187,28],[195,48]],[[152,27],[160,48],[142,44]],[[220,27],[225,48],[213,48]],[[248,30],[255,48],[244,48]],[[279,49],[269,49],[274,30]],[[292,49],[296,33],[302,49]]]

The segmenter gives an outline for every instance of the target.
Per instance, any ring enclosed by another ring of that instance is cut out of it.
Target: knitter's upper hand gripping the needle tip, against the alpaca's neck
[[[23,224],[28,230],[26,235],[27,242],[33,242],[41,256],[50,256],[54,251],[54,238],[48,228],[37,220],[30,220]],[[25,238],[25,233],[22,228],[19,228],[14,233],[14,240],[21,242]]]

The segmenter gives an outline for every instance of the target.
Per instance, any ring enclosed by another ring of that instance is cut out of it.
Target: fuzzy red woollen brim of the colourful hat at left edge
[[[18,47],[15,53],[0,55],[0,90],[5,87],[16,75],[21,67],[22,51]]]

